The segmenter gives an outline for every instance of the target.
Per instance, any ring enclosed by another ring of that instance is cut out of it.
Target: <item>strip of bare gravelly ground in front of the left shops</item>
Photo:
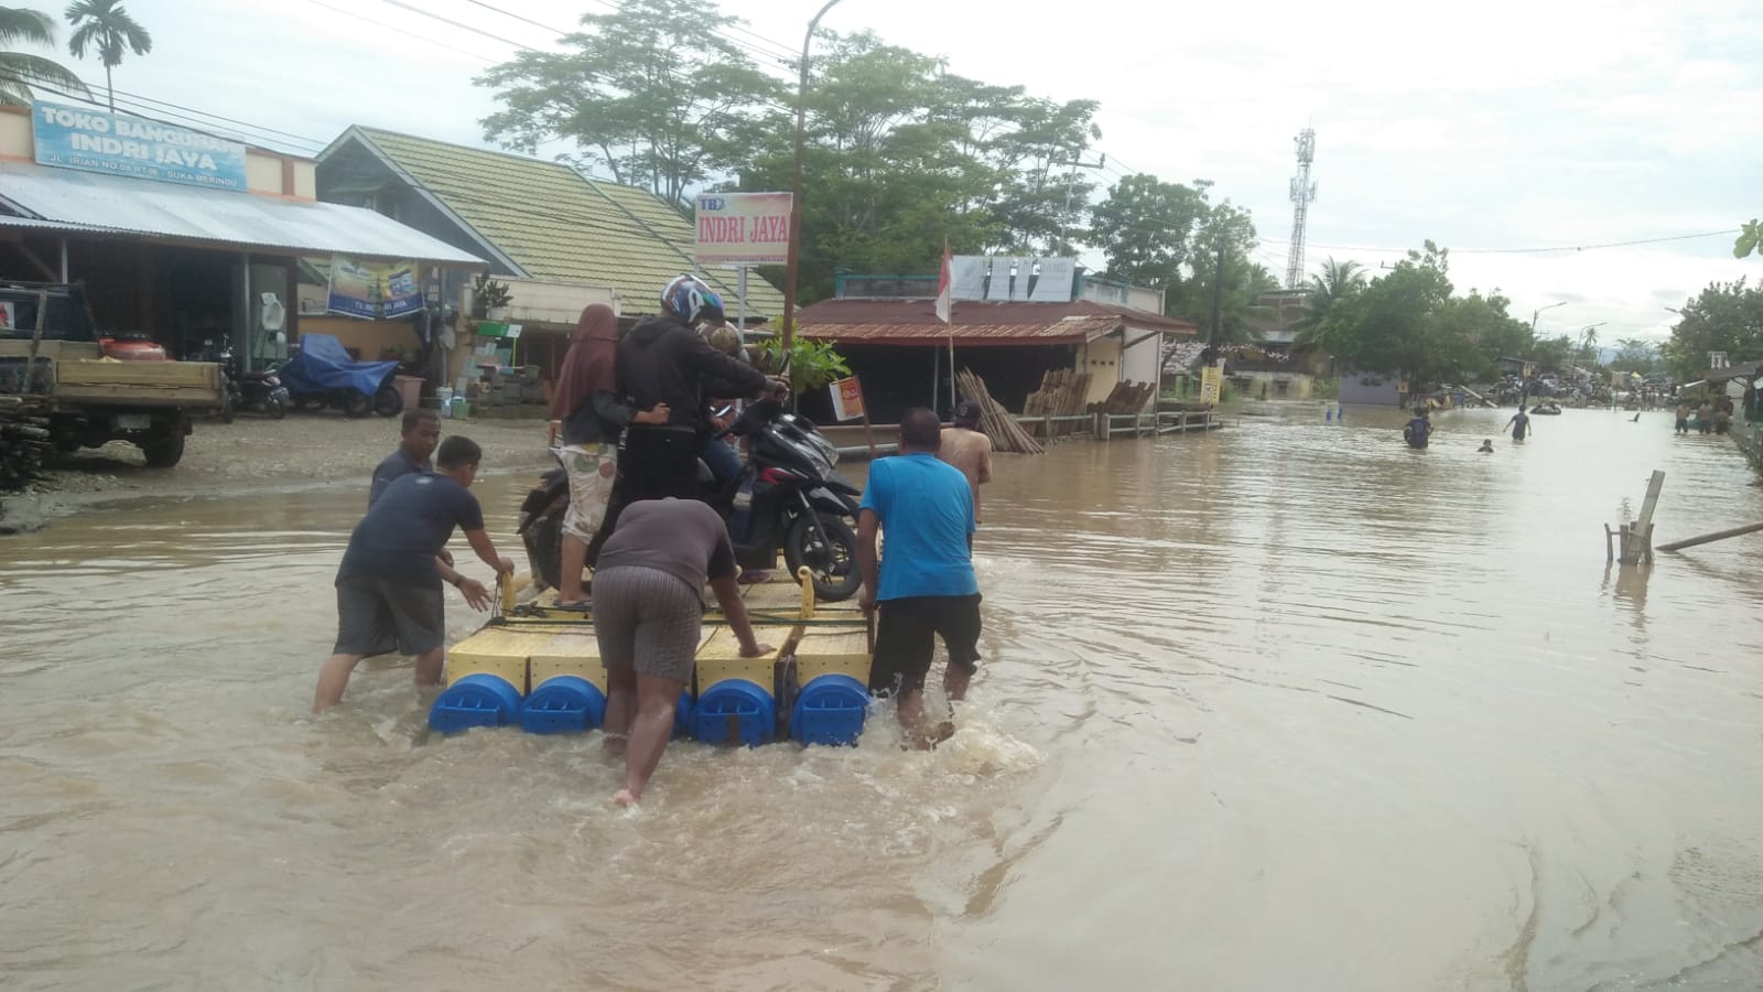
[[[443,420],[441,436],[450,434],[464,434],[483,447],[481,471],[487,473],[550,462],[545,422],[538,418]],[[395,417],[351,420],[338,413],[293,413],[286,420],[197,420],[176,468],[146,468],[141,450],[120,441],[56,455],[48,478],[23,492],[0,494],[0,517],[11,526],[28,528],[42,517],[109,500],[367,485],[374,466],[395,447]]]

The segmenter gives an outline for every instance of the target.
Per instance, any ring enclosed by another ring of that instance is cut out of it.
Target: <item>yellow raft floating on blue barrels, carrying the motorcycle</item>
[[[852,743],[867,697],[869,625],[855,598],[815,602],[806,579],[790,582],[783,570],[772,575],[770,582],[742,586],[755,635],[776,648],[758,658],[740,657],[726,618],[705,591],[710,609],[677,729],[712,741],[763,743],[790,734]],[[448,690],[430,711],[435,729],[518,722],[532,733],[582,733],[599,725],[606,669],[592,612],[557,609],[555,590],[518,604],[520,588],[524,581],[506,582],[497,616],[448,651]]]

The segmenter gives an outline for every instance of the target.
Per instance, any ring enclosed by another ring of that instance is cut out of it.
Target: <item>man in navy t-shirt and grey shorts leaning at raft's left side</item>
[[[481,457],[471,438],[448,438],[435,457],[437,471],[395,478],[354,526],[337,568],[337,646],[319,671],[314,713],[342,699],[349,674],[368,655],[391,650],[416,655],[416,683],[441,681],[446,643],[441,581],[443,568],[451,568],[435,556],[453,528],[465,531],[485,565],[515,570],[513,561],[495,554],[483,531],[483,510],[469,492]],[[457,572],[448,581],[474,609],[490,605],[481,582]]]

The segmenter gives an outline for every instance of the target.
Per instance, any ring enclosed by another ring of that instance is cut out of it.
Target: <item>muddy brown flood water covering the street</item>
[[[1509,413],[1001,457],[948,745],[679,743],[635,814],[598,736],[430,738],[405,665],[309,715],[365,487],[0,540],[0,985],[1759,988],[1763,535],[1601,524],[1763,487]]]

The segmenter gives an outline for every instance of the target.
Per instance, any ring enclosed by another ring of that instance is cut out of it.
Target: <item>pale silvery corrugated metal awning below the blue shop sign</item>
[[[25,217],[26,222],[55,221],[97,233],[224,244],[282,254],[483,265],[474,254],[358,207],[215,192],[30,162],[0,161],[0,201],[33,215]],[[30,226],[41,228],[41,222]]]

